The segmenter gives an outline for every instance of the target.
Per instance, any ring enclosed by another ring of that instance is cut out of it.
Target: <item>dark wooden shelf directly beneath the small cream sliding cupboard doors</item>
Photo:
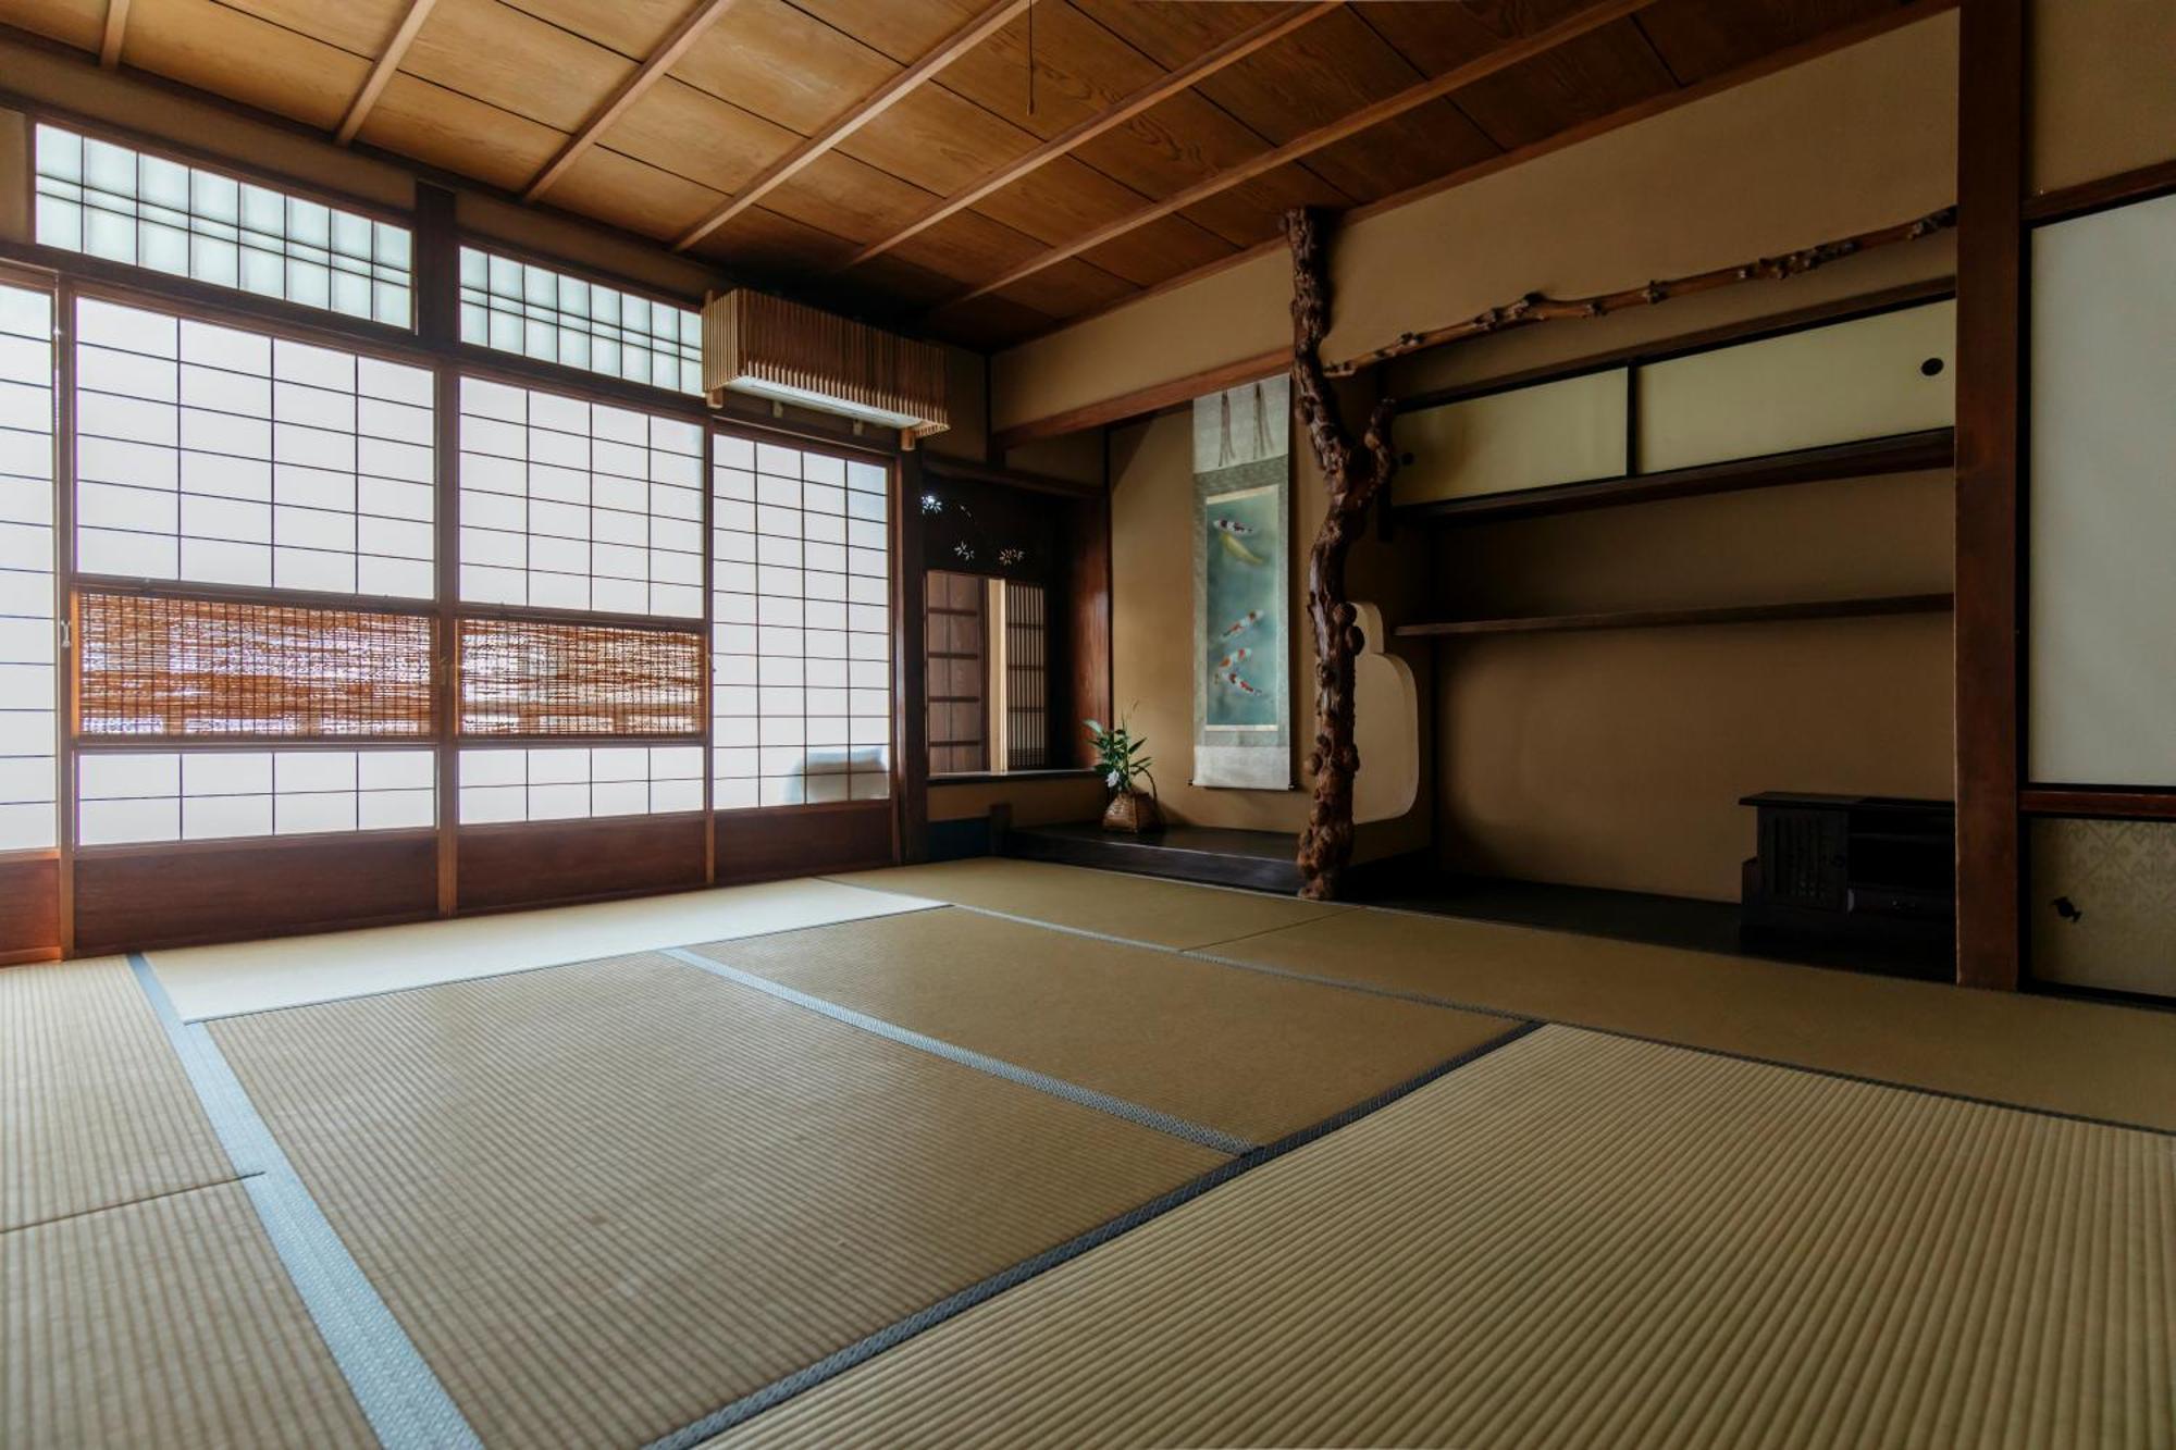
[[[1826,448],[1741,457],[1728,464],[1634,472],[1619,479],[1558,483],[1554,488],[1525,488],[1512,494],[1401,503],[1395,507],[1395,514],[1404,520],[1425,525],[1495,523],[1499,518],[1608,509],[1656,499],[1691,499],[1695,494],[1730,494],[1750,488],[1780,488],[1784,483],[1821,483],[1828,479],[1865,479],[1882,472],[1950,468],[1954,459],[1956,431],[1928,429],[1924,433],[1867,438]]]

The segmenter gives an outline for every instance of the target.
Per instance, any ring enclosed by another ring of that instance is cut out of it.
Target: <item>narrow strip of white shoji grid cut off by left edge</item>
[[[57,843],[52,296],[0,285],[0,851]]]

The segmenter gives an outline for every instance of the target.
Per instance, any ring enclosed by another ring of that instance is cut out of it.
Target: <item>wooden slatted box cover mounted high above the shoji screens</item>
[[[744,287],[703,307],[703,390],[712,405],[746,392],[914,438],[951,427],[944,348]]]

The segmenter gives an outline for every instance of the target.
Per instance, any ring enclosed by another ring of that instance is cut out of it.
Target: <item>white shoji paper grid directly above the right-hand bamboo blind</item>
[[[461,599],[701,618],[701,427],[463,377]]]

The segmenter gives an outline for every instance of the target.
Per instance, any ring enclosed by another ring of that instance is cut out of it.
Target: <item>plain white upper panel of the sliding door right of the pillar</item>
[[[2032,233],[2035,782],[2176,786],[2172,259],[2176,196]]]

